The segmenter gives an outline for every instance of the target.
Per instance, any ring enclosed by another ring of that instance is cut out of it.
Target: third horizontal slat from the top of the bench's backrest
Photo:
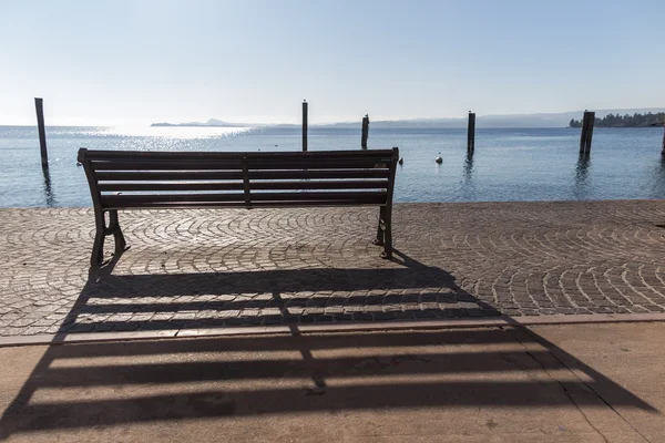
[[[249,179],[297,179],[297,178],[388,178],[387,169],[335,169],[335,171],[250,171]],[[174,171],[174,172],[99,172],[98,182],[123,181],[223,181],[243,179],[242,172],[222,171]]]

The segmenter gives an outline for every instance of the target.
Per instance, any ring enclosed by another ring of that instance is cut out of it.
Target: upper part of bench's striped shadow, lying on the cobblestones
[[[397,268],[306,268],[90,278],[60,332],[488,317],[449,272],[396,250]]]

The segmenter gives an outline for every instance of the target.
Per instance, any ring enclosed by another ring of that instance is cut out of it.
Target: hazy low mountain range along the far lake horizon
[[[624,110],[592,110],[595,111],[597,119],[603,119],[607,114],[635,114],[635,113],[658,113],[665,112],[665,107],[642,107]],[[475,117],[477,127],[567,127],[571,120],[581,119],[584,111],[571,111],[560,113],[536,113],[536,114],[510,114],[510,115],[478,115]],[[248,124],[248,123],[228,123],[221,120],[211,119],[205,123],[153,123],[151,126],[205,126],[205,127],[250,127],[250,126],[279,126],[279,127],[299,127],[299,124]],[[360,127],[360,119],[357,122],[340,122],[328,124],[311,124],[313,127]],[[377,120],[370,121],[370,128],[441,128],[441,127],[467,127],[467,117],[461,119],[412,119],[412,120]]]

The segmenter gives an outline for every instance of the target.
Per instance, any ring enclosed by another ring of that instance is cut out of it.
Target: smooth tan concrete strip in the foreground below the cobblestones
[[[663,349],[663,322],[0,347],[0,440],[655,443]]]

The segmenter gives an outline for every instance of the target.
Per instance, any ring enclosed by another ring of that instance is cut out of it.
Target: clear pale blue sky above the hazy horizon
[[[665,105],[665,1],[0,0],[0,124]]]

